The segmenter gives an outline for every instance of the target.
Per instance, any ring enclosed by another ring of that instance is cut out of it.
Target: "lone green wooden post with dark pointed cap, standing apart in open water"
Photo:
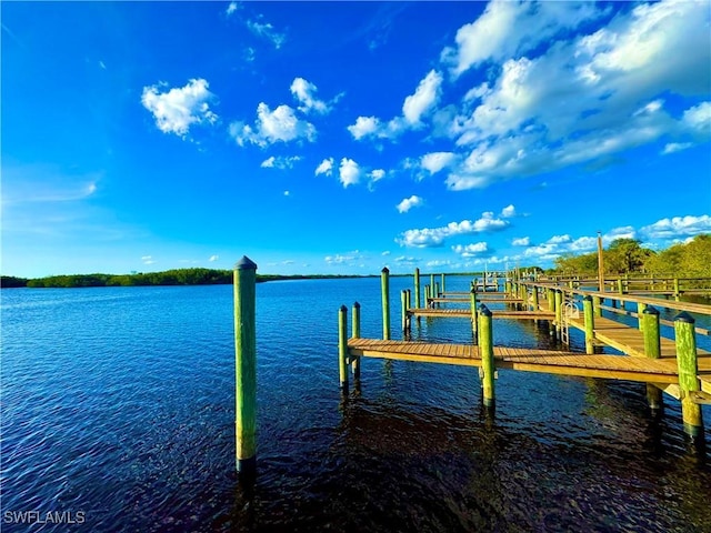
[[[257,465],[257,264],[242,255],[234,265],[234,433],[240,474]]]

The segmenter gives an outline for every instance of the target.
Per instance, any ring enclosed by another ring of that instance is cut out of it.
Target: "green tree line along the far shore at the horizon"
[[[711,278],[711,234],[701,234],[685,243],[673,244],[655,252],[643,248],[635,239],[617,239],[603,250],[605,275],[658,275],[679,278]],[[492,269],[493,270],[493,269]],[[598,252],[563,255],[554,268],[520,266],[522,271],[538,271],[548,275],[598,275]],[[481,273],[471,273],[471,275]],[[400,274],[403,275],[403,274]],[[409,275],[409,274],[408,274]],[[461,275],[465,275],[461,273]],[[257,274],[258,282],[277,280],[320,280],[368,278],[368,275]],[[9,288],[79,288],[79,286],[147,286],[147,285],[217,285],[232,283],[231,270],[177,269],[164,272],[131,274],[70,274],[26,279],[0,276],[0,285]]]

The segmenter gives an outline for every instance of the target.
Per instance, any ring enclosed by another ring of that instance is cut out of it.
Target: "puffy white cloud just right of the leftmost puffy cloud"
[[[243,122],[232,122],[229,132],[240,147],[251,142],[264,148],[278,141],[290,142],[297,139],[313,142],[317,137],[313,124],[297,118],[289,105],[282,104],[271,111],[264,102],[257,107],[254,128]]]

